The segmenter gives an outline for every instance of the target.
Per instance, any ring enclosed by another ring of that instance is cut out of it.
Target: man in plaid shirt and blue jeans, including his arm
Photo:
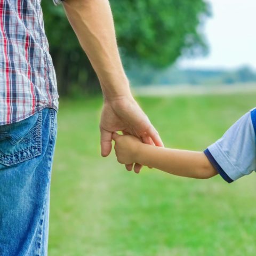
[[[108,0],[63,3],[103,92],[101,155],[115,131],[163,146],[133,99]],[[0,1],[0,255],[46,255],[58,92],[40,0]],[[65,43],[65,42],[63,42]],[[139,172],[139,164],[126,165]]]

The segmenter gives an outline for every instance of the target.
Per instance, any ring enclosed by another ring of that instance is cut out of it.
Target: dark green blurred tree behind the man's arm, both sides
[[[210,8],[204,0],[110,0],[110,5],[125,66],[164,68],[181,54],[207,50],[201,27]],[[98,79],[63,8],[46,1],[42,8],[60,94],[70,93],[73,86],[95,91]]]

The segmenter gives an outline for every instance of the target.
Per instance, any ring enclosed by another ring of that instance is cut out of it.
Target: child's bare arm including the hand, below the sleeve
[[[131,135],[113,134],[117,160],[139,163],[183,177],[207,179],[218,172],[203,152],[154,147]]]

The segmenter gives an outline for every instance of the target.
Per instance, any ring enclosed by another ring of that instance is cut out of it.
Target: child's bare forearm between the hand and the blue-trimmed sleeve
[[[167,149],[141,143],[135,161],[183,177],[206,179],[217,174],[204,153],[198,151]]]

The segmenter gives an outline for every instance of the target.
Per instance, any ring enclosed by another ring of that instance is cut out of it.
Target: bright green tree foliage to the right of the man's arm
[[[203,0],[111,0],[118,45],[126,59],[155,67],[171,65],[182,53],[205,53],[198,29],[210,14]]]

